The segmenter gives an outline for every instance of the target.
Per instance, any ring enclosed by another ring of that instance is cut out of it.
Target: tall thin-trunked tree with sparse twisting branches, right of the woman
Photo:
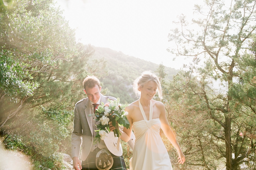
[[[179,21],[175,22],[180,25],[180,29],[174,29],[169,34],[169,41],[175,41],[177,44],[176,49],[169,51],[176,56],[194,57],[195,63],[176,81],[184,85],[180,85],[182,89],[175,90],[183,91],[182,94],[187,98],[198,98],[200,105],[192,106],[198,109],[200,115],[207,113],[208,118],[205,118],[205,121],[208,121],[211,127],[201,133],[204,141],[211,142],[200,144],[198,141],[199,146],[202,146],[197,151],[201,152],[198,160],[201,163],[191,162],[191,165],[212,169],[205,158],[225,158],[226,169],[235,170],[241,168],[244,162],[248,162],[245,159],[249,157],[248,143],[245,142],[248,137],[239,135],[242,126],[241,119],[237,119],[246,115],[243,112],[233,112],[231,103],[235,99],[230,92],[234,89],[234,81],[241,78],[240,59],[248,49],[252,34],[255,33],[255,4],[256,1],[252,0],[236,0],[231,1],[227,7],[222,1],[207,0],[204,6],[195,5],[196,14],[202,18],[193,19],[193,25],[189,25],[186,17],[181,15]],[[197,64],[202,56],[204,65],[199,67]],[[217,83],[220,88],[214,89],[213,85]],[[173,90],[171,89],[171,92]],[[181,96],[177,97],[176,101],[180,101]],[[181,104],[190,105],[186,102]],[[215,155],[204,155],[203,151],[209,144],[216,145],[216,148],[211,148],[214,149]],[[191,154],[189,148],[188,155]]]

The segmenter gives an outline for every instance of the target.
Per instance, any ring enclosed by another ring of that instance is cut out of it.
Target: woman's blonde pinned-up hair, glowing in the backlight
[[[133,91],[135,92],[136,96],[137,97],[140,96],[139,88],[143,87],[143,85],[148,83],[148,81],[156,82],[156,85],[157,85],[156,92],[158,93],[160,100],[162,100],[163,99],[162,98],[162,88],[161,88],[160,81],[159,81],[158,77],[156,76],[156,74],[149,70],[142,72],[140,77],[138,77],[134,80]]]

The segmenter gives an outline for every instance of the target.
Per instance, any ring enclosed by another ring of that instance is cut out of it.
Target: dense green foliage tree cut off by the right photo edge
[[[229,94],[233,100],[230,102],[230,109],[234,119],[239,123],[239,138],[247,146],[248,169],[255,169],[256,165],[256,46],[255,35],[249,45],[248,53],[242,55],[237,61],[239,65],[239,81],[233,83]],[[235,145],[237,148],[237,144]]]

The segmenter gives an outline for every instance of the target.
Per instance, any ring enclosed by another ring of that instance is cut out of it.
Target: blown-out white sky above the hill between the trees
[[[203,0],[57,0],[70,27],[76,28],[77,41],[175,69],[189,60],[172,61],[166,51],[174,47],[168,33],[181,13],[193,18],[194,4]]]

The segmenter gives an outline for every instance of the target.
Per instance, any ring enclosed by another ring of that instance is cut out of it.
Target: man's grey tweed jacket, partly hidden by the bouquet
[[[110,96],[101,95],[101,101],[106,103],[108,99],[116,100],[116,98]],[[80,148],[82,145],[80,159],[85,160],[91,151],[93,137],[92,137],[92,119],[93,116],[89,116],[91,113],[90,100],[88,98],[78,101],[74,109],[74,130],[71,135],[71,158],[78,157],[80,155]],[[123,154],[122,146],[120,144],[119,150],[116,148],[117,137],[114,137],[114,133],[110,132],[104,139],[104,142],[108,150],[116,156]],[[132,138],[128,142],[130,147],[133,149],[135,137],[132,134]]]

